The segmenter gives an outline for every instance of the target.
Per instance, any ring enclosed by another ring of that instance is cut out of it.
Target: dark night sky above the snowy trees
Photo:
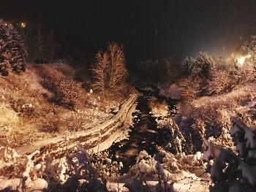
[[[0,0],[0,18],[39,15],[67,50],[120,42],[130,58],[227,55],[256,34],[255,0]]]

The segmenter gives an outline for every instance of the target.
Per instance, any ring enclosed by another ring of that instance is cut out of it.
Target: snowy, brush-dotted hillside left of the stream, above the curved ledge
[[[121,98],[101,98],[90,92],[89,80],[77,79],[66,64],[29,64],[26,72],[0,77],[0,146],[85,130],[112,117]]]

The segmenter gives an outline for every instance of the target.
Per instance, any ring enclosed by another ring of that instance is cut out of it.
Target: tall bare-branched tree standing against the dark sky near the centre
[[[94,73],[94,89],[104,93],[110,89],[113,93],[121,93],[126,87],[127,68],[124,47],[111,43],[108,50],[99,51],[96,55]]]

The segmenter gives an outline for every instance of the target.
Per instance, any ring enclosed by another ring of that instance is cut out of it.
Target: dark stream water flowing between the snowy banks
[[[129,168],[135,164],[136,156],[140,151],[146,150],[149,155],[157,155],[156,146],[165,146],[168,143],[170,130],[168,128],[158,128],[157,118],[155,118],[148,105],[148,101],[154,99],[157,102],[165,101],[168,105],[168,115],[158,117],[158,120],[170,118],[175,115],[176,101],[159,95],[159,89],[150,86],[149,88],[139,87],[138,104],[135,112],[132,113],[133,125],[130,126],[129,137],[120,142],[113,143],[108,149],[112,161],[122,161],[124,168],[121,174],[128,172]]]

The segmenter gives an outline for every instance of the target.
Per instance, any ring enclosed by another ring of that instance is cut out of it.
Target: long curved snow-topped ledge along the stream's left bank
[[[75,132],[72,135],[61,135],[42,141],[37,141],[29,145],[15,147],[19,155],[33,153],[35,150],[40,152],[48,151],[48,153],[60,153],[63,149],[70,150],[76,143],[80,143],[86,150],[92,149],[108,139],[118,128],[121,128],[127,118],[129,110],[135,103],[138,95],[136,93],[129,96],[129,99],[122,104],[118,113],[105,123],[95,126],[86,131]],[[65,146],[65,147],[63,147]]]

